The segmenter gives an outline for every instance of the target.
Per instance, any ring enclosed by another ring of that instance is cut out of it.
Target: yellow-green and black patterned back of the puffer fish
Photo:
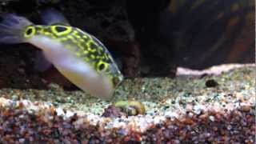
[[[74,51],[78,58],[82,58],[97,72],[110,73],[113,61],[106,47],[94,36],[72,26],[27,26],[25,38],[43,35],[58,42],[62,42],[66,49]]]

